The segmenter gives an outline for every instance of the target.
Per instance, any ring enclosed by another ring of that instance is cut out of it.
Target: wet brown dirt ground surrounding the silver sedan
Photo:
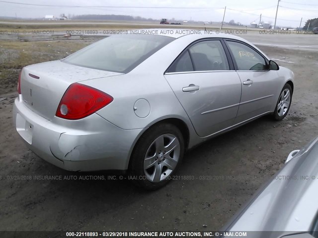
[[[50,42],[41,44],[49,49],[42,52],[47,60],[62,58],[68,49],[67,45],[59,49],[58,43],[54,47]],[[21,53],[20,48],[7,51],[3,42],[0,45],[1,65],[7,63],[5,57],[15,59]],[[0,231],[219,230],[284,165],[289,152],[307,144],[318,131],[318,54],[260,49],[295,73],[288,116],[279,122],[257,119],[189,151],[177,175],[194,179],[176,179],[153,192],[140,191],[127,179],[107,179],[107,173],[63,171],[29,151],[11,121],[17,69],[23,63],[8,66],[6,71],[2,67]]]

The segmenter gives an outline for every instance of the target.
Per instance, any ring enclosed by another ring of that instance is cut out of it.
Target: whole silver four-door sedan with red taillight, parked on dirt
[[[237,36],[115,35],[24,67],[13,122],[34,153],[60,168],[128,170],[156,189],[187,149],[267,114],[283,119],[293,80]]]

